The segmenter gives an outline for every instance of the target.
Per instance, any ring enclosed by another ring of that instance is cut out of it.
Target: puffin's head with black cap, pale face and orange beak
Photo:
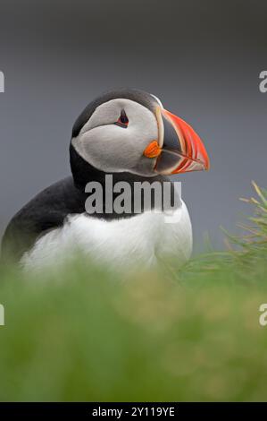
[[[142,90],[113,90],[91,102],[73,126],[73,149],[105,173],[156,176],[209,168],[192,127]]]

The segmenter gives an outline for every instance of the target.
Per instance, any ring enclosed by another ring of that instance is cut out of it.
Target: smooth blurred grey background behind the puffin
[[[104,90],[162,99],[196,129],[208,173],[180,176],[196,249],[235,230],[251,180],[267,186],[266,1],[1,0],[0,234],[21,206],[70,173],[71,127]]]

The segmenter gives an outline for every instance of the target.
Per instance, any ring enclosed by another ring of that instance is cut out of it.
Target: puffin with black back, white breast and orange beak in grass
[[[207,170],[209,157],[191,125],[160,99],[131,88],[94,99],[73,125],[70,164],[71,176],[13,216],[2,240],[4,260],[42,269],[79,251],[88,262],[129,269],[189,259],[192,225],[171,176]],[[165,186],[169,200],[164,194],[158,200]]]

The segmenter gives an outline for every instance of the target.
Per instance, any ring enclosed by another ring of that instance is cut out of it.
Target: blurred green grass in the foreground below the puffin
[[[0,400],[266,400],[267,194],[255,188],[247,235],[179,270],[1,267]]]

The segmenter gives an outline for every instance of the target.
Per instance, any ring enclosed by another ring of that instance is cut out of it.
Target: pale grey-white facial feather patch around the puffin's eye
[[[129,119],[127,128],[114,125],[122,109]],[[152,111],[129,99],[113,99],[96,108],[72,144],[83,159],[105,172],[154,176],[155,159],[147,159],[143,152],[157,139]]]

